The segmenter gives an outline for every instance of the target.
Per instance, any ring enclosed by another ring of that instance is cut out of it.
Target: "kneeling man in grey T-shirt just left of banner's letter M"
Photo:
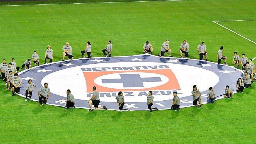
[[[44,85],[45,86],[41,87],[38,90],[38,98],[39,98],[40,106],[43,104],[46,104],[50,95],[50,88],[48,88],[48,83],[44,83]]]

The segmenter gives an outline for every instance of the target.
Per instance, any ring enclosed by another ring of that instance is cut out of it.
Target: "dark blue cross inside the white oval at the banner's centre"
[[[160,77],[141,78],[139,74],[121,74],[121,79],[102,79],[102,83],[123,83],[124,88],[143,87],[143,82],[162,81]]]

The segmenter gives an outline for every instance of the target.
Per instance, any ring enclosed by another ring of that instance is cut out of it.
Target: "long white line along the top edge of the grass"
[[[185,0],[167,0],[167,1],[185,1]],[[159,2],[159,1],[122,1],[122,2],[102,2],[102,3],[138,3],[138,2]],[[98,3],[64,3],[64,4],[101,4],[101,3],[98,2]],[[21,5],[2,5],[2,6],[41,6],[41,5],[58,5],[58,4],[21,4]]]

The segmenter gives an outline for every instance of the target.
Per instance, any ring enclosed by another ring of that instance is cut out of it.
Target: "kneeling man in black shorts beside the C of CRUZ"
[[[93,111],[92,105],[94,106],[95,110],[99,110],[99,109],[103,109],[103,108],[105,110],[107,110],[106,106],[99,107],[100,93],[99,93],[99,91],[96,90],[95,86],[93,86],[92,89],[93,89],[93,95],[92,95],[92,98],[90,100],[88,100],[88,103],[89,103],[89,106],[90,106],[90,109],[88,111]]]

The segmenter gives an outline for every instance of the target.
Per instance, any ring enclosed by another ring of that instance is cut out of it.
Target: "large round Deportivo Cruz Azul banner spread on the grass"
[[[77,108],[89,108],[93,86],[100,93],[100,105],[119,110],[115,97],[122,91],[124,108],[147,110],[147,95],[153,91],[154,106],[170,109],[173,92],[180,98],[180,106],[193,106],[191,91],[197,85],[202,103],[207,103],[207,92],[213,87],[217,99],[223,98],[225,86],[236,93],[236,81],[241,70],[208,61],[187,58],[159,58],[150,54],[73,59],[33,67],[19,73],[23,79],[20,96],[25,97],[26,84],[36,84],[32,100],[38,101],[37,92],[48,83],[49,105],[65,106],[67,89],[75,97]]]

